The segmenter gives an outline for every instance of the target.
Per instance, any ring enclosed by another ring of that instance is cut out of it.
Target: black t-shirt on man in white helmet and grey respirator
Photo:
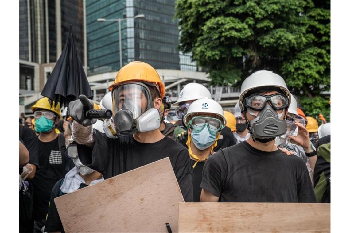
[[[209,156],[201,188],[219,202],[316,202],[304,161],[243,141]]]

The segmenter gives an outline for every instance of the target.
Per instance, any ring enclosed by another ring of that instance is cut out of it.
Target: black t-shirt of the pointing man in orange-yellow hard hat
[[[80,161],[102,173],[105,179],[148,163],[169,157],[185,202],[193,201],[193,173],[186,148],[164,137],[155,143],[140,143],[132,135],[108,138],[99,131],[93,134],[94,146],[77,145]]]

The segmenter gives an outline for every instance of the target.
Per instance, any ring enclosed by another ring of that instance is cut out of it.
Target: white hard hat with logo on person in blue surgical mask
[[[195,113],[214,113],[221,118],[223,127],[226,125],[226,118],[224,117],[224,111],[221,105],[215,100],[209,99],[208,97],[196,100],[191,103],[190,107],[188,107],[186,116],[183,118],[183,123],[185,126],[187,126],[190,116]]]

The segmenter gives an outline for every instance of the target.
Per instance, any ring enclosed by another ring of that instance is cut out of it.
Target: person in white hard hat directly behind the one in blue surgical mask
[[[204,87],[199,83],[188,83],[183,87],[179,94],[179,99],[174,103],[174,106],[178,106],[175,110],[175,114],[177,118],[181,119],[182,125],[186,128],[183,122],[183,117],[187,114],[187,109],[190,104],[195,100],[202,99],[207,97],[211,99],[211,94],[208,88]],[[188,132],[184,131],[176,137],[176,141],[178,141],[181,145],[187,147],[186,142],[188,140]],[[232,131],[229,127],[225,126],[221,131],[221,136],[217,142],[217,146],[214,148],[214,151],[218,151],[221,148],[225,148],[228,146],[232,146],[236,144],[235,137],[232,134]]]

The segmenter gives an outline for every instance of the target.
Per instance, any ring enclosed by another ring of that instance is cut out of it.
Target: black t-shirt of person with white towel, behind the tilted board
[[[61,180],[57,181],[56,184],[54,185],[54,187],[52,188],[49,213],[47,215],[47,220],[46,220],[46,224],[45,224],[45,232],[57,232],[57,231],[64,232],[62,222],[61,222],[61,219],[59,218],[57,208],[56,208],[56,205],[54,202],[54,199],[56,197],[59,197],[59,196],[66,194],[66,193],[62,192],[62,194],[59,195],[60,194],[59,188],[61,187],[62,180],[63,180],[63,178]],[[87,187],[87,186],[88,186],[87,184],[81,183],[79,189]]]

